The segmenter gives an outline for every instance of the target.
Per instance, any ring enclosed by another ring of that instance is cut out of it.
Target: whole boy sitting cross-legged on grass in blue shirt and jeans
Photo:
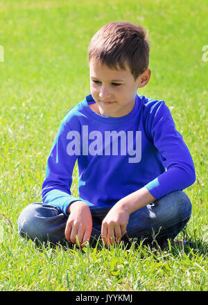
[[[175,238],[191,216],[182,191],[196,180],[189,150],[164,101],[137,95],[147,85],[146,31],[111,22],[89,44],[91,94],[64,116],[42,185],[42,203],[18,220],[21,236],[83,245]],[[79,198],[70,192],[78,161]]]

